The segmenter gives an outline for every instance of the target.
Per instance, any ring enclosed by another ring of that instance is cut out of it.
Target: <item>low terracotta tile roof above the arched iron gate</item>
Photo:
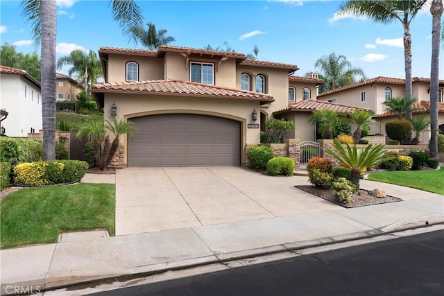
[[[282,114],[287,113],[291,111],[298,111],[298,112],[315,112],[318,110],[333,110],[336,112],[353,112],[355,110],[369,110],[366,108],[359,108],[354,107],[350,105],[342,105],[342,104],[336,104],[336,103],[330,103],[330,102],[324,102],[324,101],[316,101],[316,100],[305,100],[300,101],[298,103],[291,103],[289,104],[289,107],[273,112],[273,114]]]

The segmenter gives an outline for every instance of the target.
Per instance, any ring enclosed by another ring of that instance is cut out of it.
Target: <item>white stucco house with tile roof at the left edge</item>
[[[0,66],[0,109],[8,119],[1,121],[9,137],[27,137],[42,129],[40,82],[22,69]]]

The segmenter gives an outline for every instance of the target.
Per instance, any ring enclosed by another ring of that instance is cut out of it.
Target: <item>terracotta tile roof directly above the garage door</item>
[[[160,94],[173,96],[201,96],[213,98],[239,98],[273,102],[273,96],[257,92],[246,92],[214,85],[204,85],[182,80],[148,80],[137,82],[100,83],[92,86],[92,92],[119,92],[132,94]]]

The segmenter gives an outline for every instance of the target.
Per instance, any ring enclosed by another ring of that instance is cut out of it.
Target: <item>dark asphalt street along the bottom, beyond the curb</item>
[[[444,231],[93,295],[444,295]]]

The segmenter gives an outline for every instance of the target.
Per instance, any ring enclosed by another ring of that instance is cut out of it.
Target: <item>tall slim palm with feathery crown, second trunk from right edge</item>
[[[405,65],[405,95],[413,98],[411,85],[411,20],[418,14],[427,0],[349,0],[341,4],[339,14],[352,13],[373,19],[375,22],[389,24],[398,19],[404,27],[404,65]],[[406,119],[411,119],[411,112],[406,113]]]

